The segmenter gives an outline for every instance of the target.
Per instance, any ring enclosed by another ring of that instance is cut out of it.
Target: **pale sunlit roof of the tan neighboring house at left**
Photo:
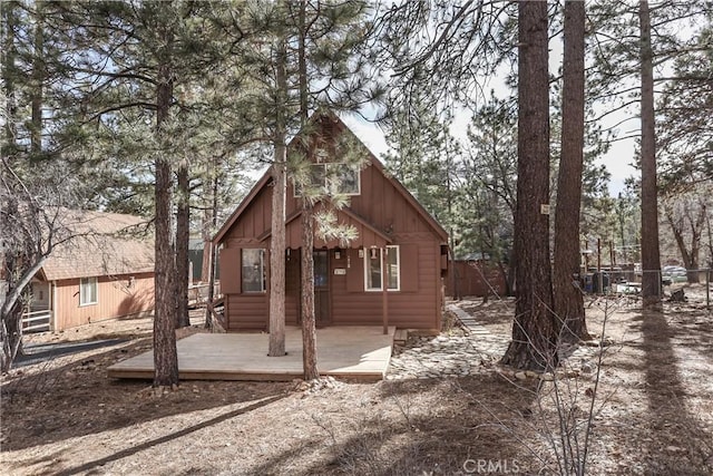
[[[40,270],[45,280],[154,271],[154,240],[135,233],[146,220],[119,213],[67,211],[67,221],[76,236],[49,255]]]

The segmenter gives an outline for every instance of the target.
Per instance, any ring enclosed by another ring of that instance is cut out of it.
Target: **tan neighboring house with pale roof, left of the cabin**
[[[76,236],[57,246],[32,280],[30,311],[48,311],[55,331],[154,310],[154,241],[145,221],[69,211]],[[33,322],[37,324],[37,322]]]

